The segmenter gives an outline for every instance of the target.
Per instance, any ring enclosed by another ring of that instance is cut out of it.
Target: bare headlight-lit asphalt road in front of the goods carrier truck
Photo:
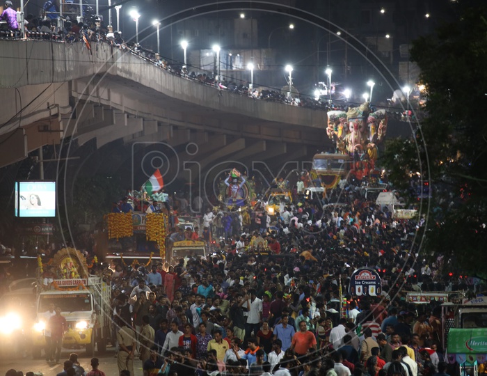
[[[22,370],[24,375],[29,371],[33,371],[34,373],[42,373],[44,376],[56,376],[63,370],[63,362],[70,357],[71,352],[76,352],[78,354],[78,361],[81,367],[85,368],[87,372],[91,370],[91,357],[87,357],[86,352],[83,349],[79,351],[63,349],[61,364],[48,363],[45,361],[44,357],[42,357],[42,359],[34,360],[31,354],[24,354],[25,357],[22,357],[13,356],[11,354],[7,355],[6,352],[2,351],[2,354],[0,354],[0,376],[5,375],[10,368]],[[114,347],[107,348],[106,353],[102,356],[98,356],[95,352],[95,357],[99,359],[99,370],[102,370],[106,376],[118,376],[117,359],[115,359]],[[134,370],[134,376],[143,376],[142,362],[138,359],[135,360]]]

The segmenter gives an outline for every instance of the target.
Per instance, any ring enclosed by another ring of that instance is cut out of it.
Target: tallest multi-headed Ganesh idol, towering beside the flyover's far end
[[[336,145],[336,154],[351,159],[350,170],[361,179],[376,175],[377,144],[387,132],[388,116],[385,110],[371,112],[369,103],[351,107],[348,111],[328,111],[326,134]]]

